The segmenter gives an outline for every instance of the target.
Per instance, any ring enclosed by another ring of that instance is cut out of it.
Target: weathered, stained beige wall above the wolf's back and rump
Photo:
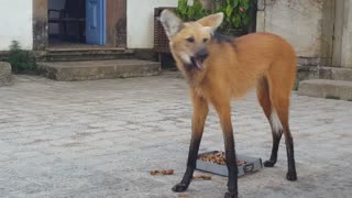
[[[283,36],[308,64],[331,64],[334,0],[260,0],[258,9],[258,32]]]

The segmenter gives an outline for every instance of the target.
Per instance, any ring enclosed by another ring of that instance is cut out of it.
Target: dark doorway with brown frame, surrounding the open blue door
[[[101,45],[87,45],[86,44],[86,22],[81,22],[80,33],[79,24],[70,24],[67,35],[64,32],[59,32],[58,22],[54,23],[52,15],[48,16],[48,10],[65,9],[66,1],[77,2],[81,0],[32,0],[33,1],[33,50],[44,51],[48,48],[105,48],[105,47],[127,47],[127,0],[103,0],[106,3],[105,18],[105,46]],[[87,20],[86,11],[89,0],[82,0],[81,6],[75,8],[70,7],[74,11],[81,12],[80,19]],[[100,1],[100,0],[99,0]],[[90,0],[90,2],[94,2]],[[69,7],[69,6],[68,6]],[[68,8],[69,9],[69,8]],[[51,13],[55,14],[55,13]],[[98,14],[97,14],[98,15]],[[54,15],[55,16],[55,15]],[[58,18],[57,13],[56,16]],[[51,21],[50,21],[51,20]],[[80,21],[82,21],[80,20]],[[89,21],[88,21],[89,22]],[[62,28],[64,30],[64,28]],[[80,35],[80,36],[79,36]],[[54,44],[54,45],[53,45]],[[55,45],[56,44],[56,45]]]

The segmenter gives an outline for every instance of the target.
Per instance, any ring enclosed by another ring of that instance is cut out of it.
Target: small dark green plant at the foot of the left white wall
[[[18,41],[12,41],[7,61],[11,64],[12,70],[15,73],[31,72],[36,68],[32,54],[21,50],[21,45]]]

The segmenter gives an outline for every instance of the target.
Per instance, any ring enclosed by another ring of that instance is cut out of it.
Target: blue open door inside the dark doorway
[[[86,43],[106,44],[106,0],[86,0]]]

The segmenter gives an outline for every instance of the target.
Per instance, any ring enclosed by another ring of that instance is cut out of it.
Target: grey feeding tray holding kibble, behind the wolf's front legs
[[[199,160],[202,156],[206,156],[209,154],[215,154],[215,153],[219,153],[219,152],[213,151],[213,152],[207,152],[207,153],[199,154],[198,158],[197,158],[196,169],[221,175],[221,176],[229,176],[229,170],[228,170],[227,165],[219,165],[216,163]],[[237,155],[237,160],[245,162],[245,165],[238,166],[238,168],[239,168],[238,176],[239,177],[246,175],[246,174],[250,174],[250,173],[257,172],[263,167],[261,158]]]

